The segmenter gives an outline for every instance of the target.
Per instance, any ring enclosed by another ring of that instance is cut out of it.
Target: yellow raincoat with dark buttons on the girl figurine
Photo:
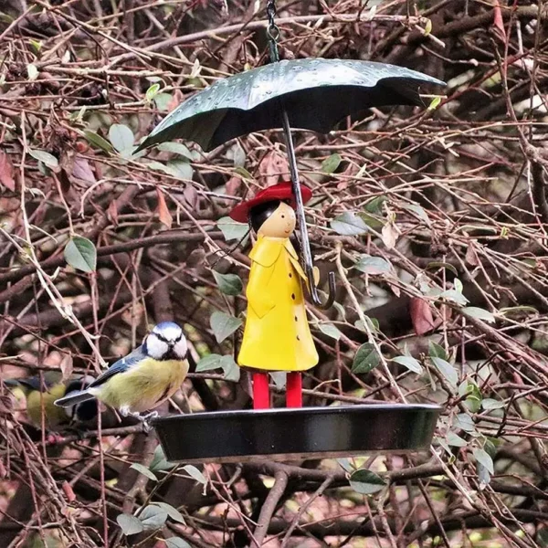
[[[304,307],[306,277],[290,239],[259,235],[249,258],[248,319],[237,363],[267,371],[310,369],[318,353]]]

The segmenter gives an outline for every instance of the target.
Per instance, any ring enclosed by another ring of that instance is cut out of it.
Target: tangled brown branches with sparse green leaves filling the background
[[[237,352],[241,333],[218,342],[210,322],[245,310],[249,247],[232,249],[241,227],[223,217],[287,177],[281,135],[131,151],[195,90],[266,62],[264,8],[2,4],[3,379],[97,374],[174,320],[193,374],[171,410],[249,406],[246,374],[200,361]],[[321,279],[338,273],[338,305],[310,310],[306,405],[439,403],[432,451],[173,469],[106,414],[101,443],[96,427],[33,437],[2,385],[0,546],[547,545],[546,5],[302,0],[279,17],[282,58],[448,82],[427,109],[296,132]],[[68,265],[70,237],[93,243],[96,271]],[[355,469],[375,475],[351,488]]]

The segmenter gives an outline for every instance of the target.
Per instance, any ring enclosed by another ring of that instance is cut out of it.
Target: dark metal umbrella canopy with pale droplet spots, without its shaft
[[[284,110],[291,128],[327,133],[344,117],[370,107],[423,104],[421,84],[445,85],[416,70],[372,61],[283,60],[196,93],[166,116],[139,150],[180,138],[208,152],[248,133],[284,127]]]

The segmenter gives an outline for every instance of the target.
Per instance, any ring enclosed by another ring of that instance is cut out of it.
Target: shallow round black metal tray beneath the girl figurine
[[[363,405],[216,411],[153,420],[172,462],[340,458],[427,449],[439,406]]]

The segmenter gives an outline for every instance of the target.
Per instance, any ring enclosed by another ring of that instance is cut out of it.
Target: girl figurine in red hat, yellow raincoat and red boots
[[[302,201],[311,190],[301,185]],[[241,367],[253,370],[253,406],[270,406],[269,371],[285,371],[286,405],[302,406],[300,372],[318,364],[306,318],[302,280],[307,281],[290,236],[295,230],[295,198],[290,183],[262,190],[230,213],[257,233],[251,250],[248,317],[244,340],[237,356]]]

